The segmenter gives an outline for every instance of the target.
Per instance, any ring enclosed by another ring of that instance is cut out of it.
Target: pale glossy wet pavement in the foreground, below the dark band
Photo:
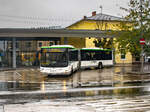
[[[6,104],[5,112],[149,112],[150,95],[101,95]]]

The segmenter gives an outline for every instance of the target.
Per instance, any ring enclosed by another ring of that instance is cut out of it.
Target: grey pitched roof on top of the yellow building
[[[95,16],[86,17],[86,20],[105,20],[105,21],[125,21],[124,18],[111,16],[107,14],[96,14]]]

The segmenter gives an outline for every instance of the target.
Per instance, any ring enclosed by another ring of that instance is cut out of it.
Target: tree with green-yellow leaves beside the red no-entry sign
[[[121,9],[128,11],[129,14],[125,17],[126,20],[119,25],[122,31],[116,39],[118,48],[119,50],[124,48],[133,57],[140,57],[139,39],[150,40],[150,1],[142,0],[142,4],[140,4],[140,0],[130,0],[129,9],[122,7]],[[148,46],[145,45],[145,52],[149,52],[147,48]]]

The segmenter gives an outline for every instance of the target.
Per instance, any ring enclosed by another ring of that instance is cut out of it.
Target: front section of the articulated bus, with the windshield
[[[41,47],[40,71],[51,75],[70,75],[79,69],[78,50],[71,45]]]

